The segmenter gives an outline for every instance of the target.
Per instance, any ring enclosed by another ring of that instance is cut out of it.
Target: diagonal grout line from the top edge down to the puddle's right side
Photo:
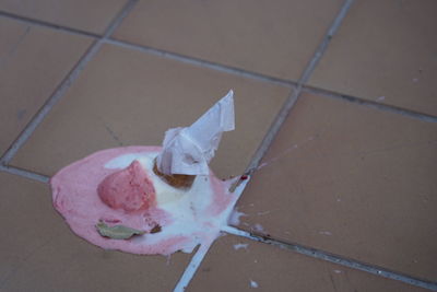
[[[352,3],[354,0],[346,0],[339,14],[335,16],[334,22],[332,25],[329,27],[327,34],[323,37],[322,43],[319,45],[319,47],[316,49],[315,55],[312,56],[311,60],[309,61],[308,66],[304,70],[299,81],[297,82],[297,85],[295,89],[292,91],[290,94],[288,98],[285,101],[284,105],[282,106],[280,113],[275,117],[272,126],[268,130],[264,139],[260,143],[259,148],[257,149],[256,153],[253,154],[252,159],[250,160],[249,165],[246,168],[246,174],[251,174],[259,165],[261,162],[261,159],[264,156],[265,152],[270,148],[270,144],[273,142],[273,139],[276,137],[282,124],[284,124],[285,119],[287,118],[290,112],[292,112],[292,108],[297,102],[297,98],[299,97],[302,91],[303,91],[303,84],[309,79],[311,75],[312,71],[315,70],[317,63],[319,62],[320,58],[323,56],[323,52],[327,50],[329,43],[331,42],[332,37],[339,30],[344,16],[346,15],[347,11],[350,10]]]

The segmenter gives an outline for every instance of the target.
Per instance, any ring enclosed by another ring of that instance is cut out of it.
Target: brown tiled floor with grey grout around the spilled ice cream
[[[437,291],[436,12],[434,0],[1,1],[0,290]],[[212,168],[252,176],[240,222],[201,261],[69,231],[49,176],[96,150],[160,144],[228,89],[237,129]]]

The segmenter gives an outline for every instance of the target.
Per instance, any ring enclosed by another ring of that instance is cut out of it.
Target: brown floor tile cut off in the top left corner
[[[102,34],[127,0],[2,0],[0,11]]]

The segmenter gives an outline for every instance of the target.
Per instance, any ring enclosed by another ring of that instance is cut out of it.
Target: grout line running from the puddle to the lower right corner
[[[236,229],[233,226],[225,226],[222,231],[226,232],[228,234],[241,236],[241,237],[252,240],[256,242],[261,242],[261,243],[270,244],[273,246],[277,246],[283,249],[293,250],[293,252],[296,252],[298,254],[306,255],[309,257],[314,257],[314,258],[322,259],[322,260],[330,261],[333,264],[342,265],[347,268],[369,272],[369,273],[385,277],[385,278],[388,278],[391,280],[401,281],[401,282],[404,282],[404,283],[408,283],[411,285],[429,289],[432,291],[437,291],[437,282],[421,280],[421,279],[417,279],[417,278],[414,278],[411,276],[391,271],[389,269],[371,266],[371,265],[361,262],[361,261],[354,260],[354,259],[349,259],[349,258],[345,258],[342,256],[336,256],[336,255],[333,255],[333,254],[330,254],[330,253],[327,253],[327,252],[323,252],[320,249],[307,247],[307,246],[295,244],[295,243],[284,243],[281,241],[275,241],[273,238],[265,237],[262,235],[256,235],[256,234],[252,234],[247,231],[243,231],[243,230],[239,230],[239,229]]]

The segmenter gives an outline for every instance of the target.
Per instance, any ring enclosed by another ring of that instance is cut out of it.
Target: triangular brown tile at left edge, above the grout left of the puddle
[[[0,155],[92,39],[0,17]]]

